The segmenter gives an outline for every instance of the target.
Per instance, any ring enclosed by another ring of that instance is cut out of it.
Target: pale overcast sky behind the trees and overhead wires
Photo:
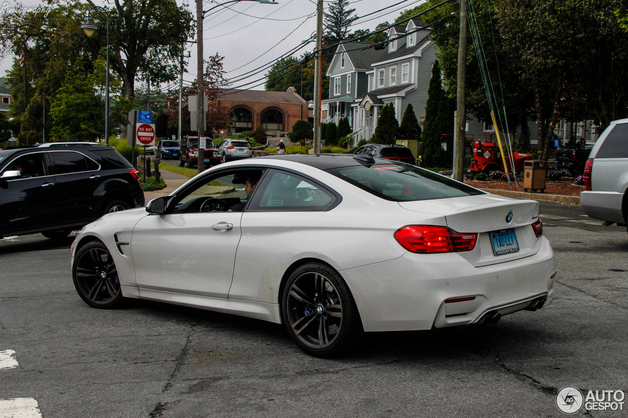
[[[225,0],[204,1],[204,10],[208,10]],[[224,70],[227,71],[225,77],[234,80],[232,87],[250,88],[253,90],[264,90],[264,80],[253,82],[258,78],[263,78],[266,70],[261,74],[255,74],[246,80],[235,81],[246,77],[244,73],[254,70],[261,65],[273,62],[279,56],[300,45],[301,41],[307,40],[316,33],[316,3],[315,0],[276,0],[279,4],[260,4],[252,1],[242,1],[241,3],[229,4],[229,8],[222,6],[215,8],[211,13],[206,14],[203,21],[203,56],[219,53],[224,56]],[[350,8],[355,8],[358,16],[372,13],[400,0],[349,0]],[[372,14],[355,24],[351,29],[371,29],[384,21],[393,22],[404,9],[413,8],[423,3],[425,0],[406,0],[398,6],[386,9],[381,13]],[[189,3],[190,11],[196,16],[195,2],[193,0],[176,0],[178,4]],[[94,1],[97,5],[102,5],[102,1]],[[329,2],[325,1],[325,8]],[[18,2],[14,0],[0,0],[1,9],[8,4],[14,8]],[[34,8],[43,3],[36,0],[24,0],[24,8]],[[238,13],[240,12],[240,13]],[[245,16],[242,13],[254,17]],[[308,16],[311,16],[307,19]],[[259,19],[265,18],[265,19]],[[276,20],[273,20],[276,19]],[[367,19],[369,19],[367,21]],[[362,22],[364,21],[364,22]],[[98,23],[96,23],[98,24]],[[195,40],[196,36],[194,36]],[[285,40],[283,40],[285,38]],[[283,40],[283,41],[282,41]],[[278,45],[276,45],[278,44]],[[184,73],[183,79],[191,82],[196,77],[197,48],[195,44],[188,44],[188,51],[192,55],[187,59],[188,73]],[[274,46],[276,45],[276,46]],[[314,43],[298,51],[295,56],[308,50],[313,50]],[[187,55],[187,54],[186,54]],[[13,56],[0,58],[0,77],[11,68]],[[252,62],[251,62],[252,61]],[[251,62],[251,63],[249,63]],[[244,85],[247,82],[253,82]],[[136,83],[136,87],[141,83]],[[178,86],[178,82],[174,83]],[[173,84],[173,85],[174,85]],[[166,86],[163,86],[166,87]]]

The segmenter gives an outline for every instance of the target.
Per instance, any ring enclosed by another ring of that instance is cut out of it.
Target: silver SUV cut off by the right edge
[[[580,205],[592,218],[625,227],[628,219],[628,119],[610,122],[589,154]]]

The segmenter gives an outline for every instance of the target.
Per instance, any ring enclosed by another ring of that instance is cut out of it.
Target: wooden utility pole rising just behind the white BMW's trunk
[[[455,156],[453,157],[453,178],[463,181],[465,161],[465,125],[467,109],[465,108],[465,78],[467,75],[467,0],[460,1],[460,36],[458,38],[458,85],[456,91],[457,117],[455,131]]]

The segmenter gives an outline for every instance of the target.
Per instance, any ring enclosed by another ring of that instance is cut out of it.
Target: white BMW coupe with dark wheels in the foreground
[[[535,311],[556,267],[536,201],[320,154],[220,164],[105,215],[78,233],[72,272],[94,308],[134,297],[284,323],[303,350],[333,356],[362,331]]]

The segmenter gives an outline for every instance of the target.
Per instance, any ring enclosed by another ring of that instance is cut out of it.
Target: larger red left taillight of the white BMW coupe
[[[404,249],[417,254],[462,252],[474,249],[477,233],[460,233],[434,225],[406,225],[394,233]]]

